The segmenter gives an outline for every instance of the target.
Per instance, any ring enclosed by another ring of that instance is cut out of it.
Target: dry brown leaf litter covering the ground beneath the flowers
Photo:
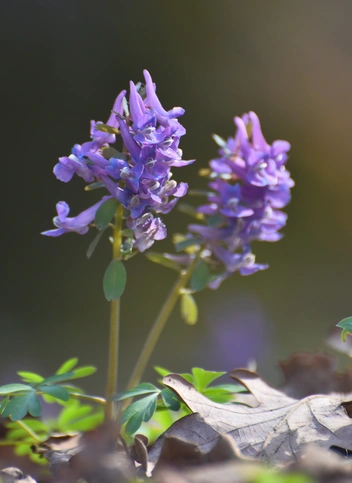
[[[232,371],[248,394],[227,404],[211,401],[178,374],[165,376],[165,386],[192,414],[151,447],[142,435],[132,448],[116,446],[118,428],[107,425],[68,448],[48,441],[52,481],[351,483],[351,373],[336,373],[326,354],[295,354],[280,366],[280,390],[254,372]]]

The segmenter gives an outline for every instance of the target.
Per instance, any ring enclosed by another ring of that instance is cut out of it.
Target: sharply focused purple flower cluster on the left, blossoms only
[[[87,183],[99,183],[110,196],[73,218],[67,217],[68,205],[58,203],[58,216],[54,218],[57,229],[44,235],[86,233],[96,210],[113,197],[127,211],[126,225],[134,233],[135,248],[143,252],[154,240],[166,237],[166,227],[155,214],[171,211],[188,189],[186,183],[172,179],[171,168],[186,166],[194,160],[182,160],[178,147],[186,131],[177,118],[184,110],[175,107],[166,111],[146,70],[144,78],[145,87],[131,82],[129,103],[126,91],[122,91],[106,124],[91,121],[91,141],[76,144],[71,155],[59,158],[54,168],[59,180],[66,183],[77,174]],[[116,135],[121,135],[122,152],[112,147]]]

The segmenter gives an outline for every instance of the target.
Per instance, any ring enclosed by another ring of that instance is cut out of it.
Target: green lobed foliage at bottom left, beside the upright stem
[[[43,377],[33,372],[19,371],[20,383],[0,386],[0,415],[8,418],[8,432],[4,445],[13,444],[19,455],[32,455],[31,446],[47,440],[56,433],[65,435],[88,431],[103,421],[105,400],[85,394],[71,381],[96,372],[93,366],[76,367],[77,358],[64,362],[54,375]],[[94,403],[95,407],[81,404],[78,399]],[[55,419],[37,420],[42,412],[42,402],[57,403],[63,409]],[[96,408],[96,406],[100,406]],[[39,461],[38,455],[33,455]],[[40,460],[42,462],[42,460]]]

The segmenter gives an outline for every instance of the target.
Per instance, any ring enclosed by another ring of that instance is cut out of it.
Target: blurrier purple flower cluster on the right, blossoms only
[[[235,117],[237,133],[227,142],[219,137],[220,157],[210,161],[211,182],[208,203],[198,212],[207,225],[192,224],[189,231],[200,235],[223,273],[210,282],[217,288],[233,272],[250,275],[268,265],[255,262],[251,243],[274,242],[287,215],[281,208],[290,201],[294,182],[285,169],[290,144],[274,141],[269,145],[254,112]]]

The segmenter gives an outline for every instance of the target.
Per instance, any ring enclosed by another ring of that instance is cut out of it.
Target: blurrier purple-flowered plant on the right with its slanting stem
[[[215,290],[235,272],[251,275],[268,268],[256,263],[251,244],[275,242],[283,236],[279,230],[287,215],[281,209],[289,203],[294,185],[285,169],[290,144],[279,140],[269,145],[254,112],[235,117],[235,124],[234,138],[225,141],[214,136],[220,157],[201,172],[210,178],[209,190],[193,192],[205,196],[207,203],[183,209],[202,223],[190,224],[185,235],[174,237],[176,254],[147,253],[151,261],[178,270],[180,275],[143,346],[129,389],[140,382],[179,299],[182,318],[193,325],[198,317],[195,292],[206,287]]]

